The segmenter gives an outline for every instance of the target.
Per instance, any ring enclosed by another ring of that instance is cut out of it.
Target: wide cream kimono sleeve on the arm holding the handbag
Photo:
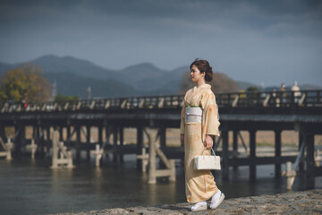
[[[202,141],[206,139],[206,134],[219,136],[219,114],[216,105],[216,98],[212,91],[206,91],[201,100],[202,108]]]

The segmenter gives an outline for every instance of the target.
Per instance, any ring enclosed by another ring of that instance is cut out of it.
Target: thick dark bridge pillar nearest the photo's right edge
[[[306,188],[313,189],[315,186],[315,177],[314,177],[314,134],[307,134],[305,137],[306,141]]]

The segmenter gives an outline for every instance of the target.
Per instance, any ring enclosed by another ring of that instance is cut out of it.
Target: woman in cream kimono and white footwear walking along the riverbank
[[[190,66],[191,80],[197,86],[184,96],[181,121],[181,143],[184,145],[184,171],[188,202],[195,203],[191,211],[207,210],[223,202],[225,194],[217,188],[210,170],[195,170],[194,157],[201,155],[205,148],[213,146],[213,136],[219,136],[218,108],[211,86],[206,82],[213,79],[213,71],[208,61],[196,59]],[[209,154],[209,150],[207,150]]]

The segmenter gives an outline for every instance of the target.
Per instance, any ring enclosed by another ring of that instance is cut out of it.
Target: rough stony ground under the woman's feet
[[[208,202],[209,205],[209,202]],[[115,208],[68,214],[322,214],[322,189],[225,200],[216,210],[190,211],[190,203]]]

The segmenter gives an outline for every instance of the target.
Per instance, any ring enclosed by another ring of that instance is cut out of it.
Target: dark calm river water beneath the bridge
[[[136,170],[135,156],[124,156],[123,163],[107,160],[95,168],[94,160],[77,163],[72,170],[50,169],[50,159],[0,159],[0,214],[46,214],[93,211],[115,207],[153,206],[186,202],[184,173],[176,163],[176,182],[165,179],[148,185],[148,174]],[[284,168],[284,166],[283,166]],[[216,184],[226,198],[286,192],[286,180],[274,178],[274,168],[258,166],[258,179],[249,181],[249,170],[231,169],[230,180],[215,172]],[[322,188],[321,177],[316,187]],[[302,190],[295,180],[294,190]]]

